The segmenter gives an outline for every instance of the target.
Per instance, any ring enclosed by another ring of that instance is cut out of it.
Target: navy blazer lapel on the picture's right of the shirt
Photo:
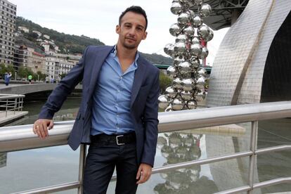
[[[138,63],[138,61],[137,61]],[[136,69],[136,72],[134,73],[134,84],[132,85],[131,90],[131,103],[130,107],[134,104],[134,101],[136,100],[136,96],[138,94],[139,89],[141,88],[141,84],[143,81],[143,75],[145,75],[145,67],[142,62],[138,63],[138,67]]]

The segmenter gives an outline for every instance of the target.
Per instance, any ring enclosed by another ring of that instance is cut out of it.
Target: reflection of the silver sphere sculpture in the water
[[[157,147],[160,148],[162,156],[167,159],[167,164],[176,164],[191,160],[199,160],[201,156],[200,139],[202,135],[166,133],[159,136]],[[215,193],[218,191],[214,181],[206,176],[200,176],[200,165],[193,165],[171,172],[160,173],[164,183],[158,183],[155,193]],[[207,186],[207,190],[205,190]]]

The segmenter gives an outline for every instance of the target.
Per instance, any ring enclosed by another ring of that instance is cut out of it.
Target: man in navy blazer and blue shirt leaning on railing
[[[139,6],[119,16],[115,46],[89,46],[60,81],[34,122],[34,134],[48,136],[53,114],[82,81],[82,102],[68,140],[73,150],[91,143],[84,193],[106,193],[116,167],[116,193],[136,193],[150,178],[157,144],[159,70],[139,55],[148,20]]]

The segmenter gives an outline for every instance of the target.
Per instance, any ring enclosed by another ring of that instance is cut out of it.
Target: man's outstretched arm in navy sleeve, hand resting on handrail
[[[48,136],[48,129],[53,128],[53,115],[60,110],[63,102],[67,96],[75,89],[75,86],[83,79],[84,73],[84,60],[86,57],[86,51],[84,50],[83,56],[79,63],[70,70],[70,72],[60,81],[56,89],[48,96],[48,100],[41,108],[39,113],[39,119],[34,122],[33,132],[37,134],[39,138],[46,138]]]

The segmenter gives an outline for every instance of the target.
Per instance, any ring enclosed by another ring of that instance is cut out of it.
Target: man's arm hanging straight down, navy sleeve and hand
[[[138,184],[144,183],[150,179],[155,160],[155,149],[157,146],[157,124],[159,123],[159,120],[157,119],[157,98],[160,94],[159,75],[160,72],[157,70],[153,85],[145,103],[145,113],[143,119],[143,122],[145,123],[145,140],[143,145],[143,154],[141,156],[141,165],[139,166],[138,173],[136,174],[136,179],[139,179],[136,182]]]

